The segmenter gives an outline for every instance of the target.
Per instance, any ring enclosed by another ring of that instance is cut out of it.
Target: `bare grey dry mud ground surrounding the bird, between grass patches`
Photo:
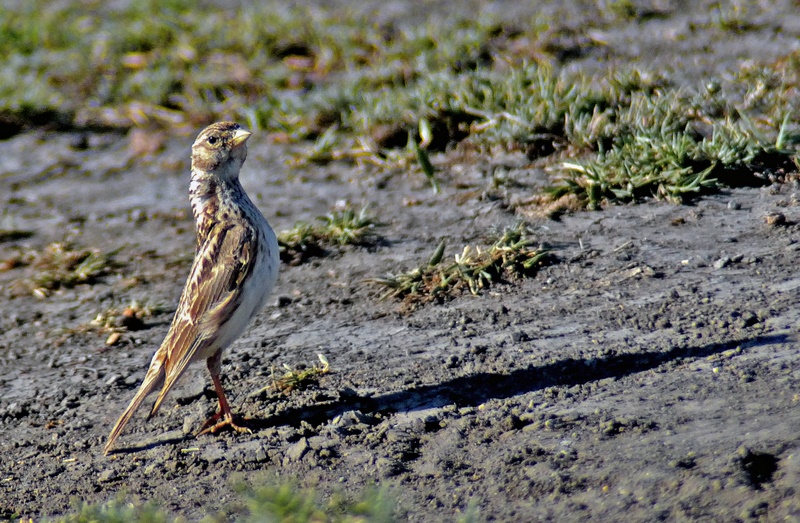
[[[498,170],[517,190],[540,185],[522,155],[449,168],[435,196],[421,175],[287,167],[254,135],[242,179],[276,229],[346,200],[370,204],[385,244],[283,267],[223,366],[253,434],[191,436],[216,407],[198,367],[103,456],[191,262],[192,138],[145,159],[111,134],[0,143],[3,228],[34,232],[0,258],[68,237],[119,262],[93,285],[0,302],[0,519],[123,493],[198,520],[230,508],[237,484],[293,480],[323,495],[387,485],[413,521],[470,503],[495,521],[800,520],[797,186],[534,220],[560,259],[535,278],[410,314],[377,301],[365,279],[416,266],[442,237],[452,256],[514,223],[480,194]],[[768,225],[773,212],[786,223]],[[74,331],[133,299],[165,310],[111,347]],[[318,384],[267,388],[273,366],[318,353],[332,366]]]

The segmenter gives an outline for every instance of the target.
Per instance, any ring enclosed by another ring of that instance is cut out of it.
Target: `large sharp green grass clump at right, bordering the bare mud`
[[[724,186],[764,185],[770,170],[779,176],[794,170],[780,138],[768,141],[743,116],[715,123],[703,136],[674,97],[638,97],[604,125],[580,122],[572,129],[583,143],[590,132],[600,144],[597,154],[562,162],[550,189],[554,199],[577,195],[589,208],[648,197],[682,202]]]

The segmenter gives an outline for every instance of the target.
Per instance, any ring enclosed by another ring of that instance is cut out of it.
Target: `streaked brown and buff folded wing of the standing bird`
[[[253,237],[249,227],[217,224],[200,245],[178,312],[159,349],[166,353],[166,378],[151,415],[194,355],[214,343],[218,327],[238,307],[237,289],[253,269]]]

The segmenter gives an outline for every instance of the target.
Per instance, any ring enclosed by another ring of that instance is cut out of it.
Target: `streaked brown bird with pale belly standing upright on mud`
[[[280,265],[275,233],[239,182],[250,136],[237,123],[217,122],[200,132],[192,145],[189,200],[197,236],[194,262],[169,331],[111,429],[106,455],[144,399],[159,391],[150,419],[189,364],[201,360],[211,374],[219,410],[197,435],[225,426],[249,431],[235,423],[225,397],[222,353],[264,307]]]

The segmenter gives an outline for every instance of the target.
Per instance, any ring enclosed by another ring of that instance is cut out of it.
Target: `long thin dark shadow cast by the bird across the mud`
[[[737,346],[746,350],[751,347],[784,343],[788,339],[787,335],[779,334],[699,347],[675,347],[664,352],[611,354],[590,359],[566,358],[542,366],[529,365],[507,374],[481,372],[453,378],[436,385],[424,385],[380,396],[343,394],[331,402],[293,407],[268,418],[250,418],[245,423],[253,431],[259,431],[282,425],[299,427],[301,422],[321,425],[353,410],[393,414],[451,404],[474,407],[491,399],[509,398],[553,386],[581,385],[606,378],[622,378],[654,369],[671,361],[705,358]],[[150,441],[147,444],[118,449],[115,453],[138,452],[193,439],[192,436],[177,436],[175,432],[165,434],[157,441]]]

